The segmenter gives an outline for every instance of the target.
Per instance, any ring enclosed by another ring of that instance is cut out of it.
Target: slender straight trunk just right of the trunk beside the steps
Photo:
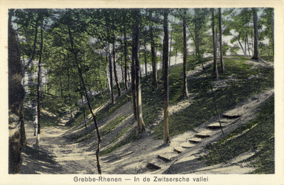
[[[182,76],[183,76],[183,97],[187,97],[188,96],[188,91],[187,91],[187,43],[186,43],[186,25],[185,25],[185,18],[183,19],[183,23],[182,23],[182,33],[183,33],[183,63],[182,63]]]

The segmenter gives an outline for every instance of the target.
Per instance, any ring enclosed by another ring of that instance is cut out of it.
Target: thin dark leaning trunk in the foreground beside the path
[[[78,69],[78,75],[80,76],[80,80],[81,80],[81,83],[82,83],[82,88],[84,90],[84,94],[86,96],[86,99],[87,99],[87,104],[89,106],[89,111],[91,112],[92,114],[92,117],[93,117],[93,120],[94,120],[94,125],[96,127],[96,130],[97,130],[97,137],[98,137],[98,148],[97,148],[97,153],[96,153],[96,156],[97,156],[97,169],[98,169],[98,172],[99,174],[102,174],[102,170],[101,170],[101,166],[99,164],[99,149],[101,148],[101,144],[102,144],[102,140],[101,140],[101,137],[99,135],[99,128],[97,126],[97,120],[96,120],[96,117],[94,116],[94,112],[92,110],[92,106],[89,102],[89,97],[87,95],[87,90],[86,90],[86,87],[84,85],[84,79],[82,77],[82,71],[81,71],[81,68],[79,66],[79,62],[77,60],[77,53],[75,52],[75,49],[74,49],[74,44],[73,44],[73,38],[72,38],[72,34],[71,34],[71,30],[70,30],[70,26],[68,25],[68,33],[69,33],[69,38],[70,38],[70,43],[71,43],[71,49],[72,49],[72,53],[74,54],[74,57],[75,57],[75,62],[76,62],[76,65],[77,65],[77,69]]]

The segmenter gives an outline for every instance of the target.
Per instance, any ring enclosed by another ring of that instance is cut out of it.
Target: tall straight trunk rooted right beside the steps
[[[168,10],[164,10],[164,41],[163,41],[163,113],[164,113],[164,137],[165,144],[170,143],[168,123]]]

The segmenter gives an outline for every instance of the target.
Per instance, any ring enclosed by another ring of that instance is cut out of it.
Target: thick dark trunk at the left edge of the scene
[[[20,173],[21,147],[26,146],[26,132],[23,122],[23,100],[21,85],[21,55],[16,36],[9,25],[8,39],[8,81],[9,81],[9,174]]]

